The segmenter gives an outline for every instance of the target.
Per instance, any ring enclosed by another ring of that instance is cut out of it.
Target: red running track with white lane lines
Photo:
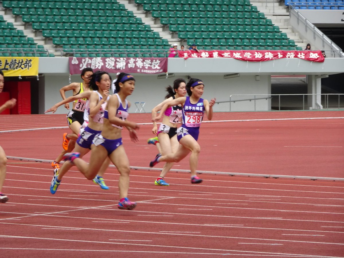
[[[294,118],[325,114],[317,113],[303,112]],[[214,120],[292,118],[287,112],[280,114],[237,112],[216,114]],[[149,122],[147,114],[131,117]],[[1,116],[1,131],[15,130],[16,124],[29,129],[39,122],[42,125],[36,128],[64,122],[61,115],[25,118]],[[343,119],[204,123],[198,169],[343,178],[343,123]],[[0,142],[8,156],[49,160],[61,151],[64,130],[2,132]],[[139,144],[123,133],[132,166],[148,166],[156,154],[155,147],[146,144],[150,130],[151,125],[142,125]],[[184,160],[176,168],[188,169],[187,163]],[[204,182],[192,185],[188,173],[171,172],[166,178],[171,185],[160,187],[153,184],[158,172],[132,170],[129,198],[138,206],[122,211],[116,207],[115,168],[105,175],[108,191],[74,170],[55,195],[49,191],[52,169],[47,163],[9,160],[7,172],[3,192],[10,201],[0,205],[1,257],[343,257],[342,181],[202,174]]]

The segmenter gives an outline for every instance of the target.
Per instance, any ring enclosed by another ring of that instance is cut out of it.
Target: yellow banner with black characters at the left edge
[[[0,69],[4,76],[38,75],[39,57],[0,57]]]

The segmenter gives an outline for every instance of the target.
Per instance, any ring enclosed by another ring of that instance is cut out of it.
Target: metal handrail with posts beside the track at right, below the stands
[[[343,93],[325,93],[325,94],[234,94],[229,96],[229,101],[217,101],[216,103],[229,103],[229,111],[232,111],[232,102],[235,103],[236,101],[251,101],[254,100],[255,105],[255,111],[256,111],[256,100],[259,99],[268,99],[272,98],[272,96],[278,96],[278,110],[281,110],[281,96],[302,96],[303,99],[303,110],[305,110],[305,96],[324,96],[325,101],[325,108],[329,109],[329,95],[338,95],[338,109],[340,109],[340,96],[344,95]],[[254,98],[250,99],[238,99],[238,100],[232,100],[233,96],[254,96]],[[263,97],[263,98],[256,98],[256,96],[270,96],[270,97]],[[316,103],[316,105],[321,108],[319,103]]]

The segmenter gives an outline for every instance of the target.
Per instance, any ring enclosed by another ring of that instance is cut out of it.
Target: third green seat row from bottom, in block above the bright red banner
[[[288,40],[279,32],[178,32],[180,39],[277,39]]]

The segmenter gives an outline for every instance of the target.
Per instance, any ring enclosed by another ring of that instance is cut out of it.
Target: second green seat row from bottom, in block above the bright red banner
[[[188,39],[187,44],[197,46],[290,46],[295,47],[293,40],[263,40],[263,39]]]

